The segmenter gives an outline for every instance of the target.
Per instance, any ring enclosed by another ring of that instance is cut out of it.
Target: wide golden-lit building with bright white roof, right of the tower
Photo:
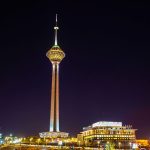
[[[84,127],[78,134],[78,141],[86,146],[106,146],[113,144],[118,148],[131,148],[135,143],[136,129],[131,125],[122,125],[122,122],[100,121],[91,126]]]

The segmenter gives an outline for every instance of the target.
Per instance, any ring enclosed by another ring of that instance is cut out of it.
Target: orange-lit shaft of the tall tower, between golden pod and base
[[[50,131],[59,132],[59,64],[52,63]]]

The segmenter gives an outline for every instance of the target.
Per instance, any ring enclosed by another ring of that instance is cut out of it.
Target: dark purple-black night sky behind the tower
[[[150,4],[127,1],[0,2],[0,132],[49,129],[58,13],[60,130],[122,121],[150,137]]]

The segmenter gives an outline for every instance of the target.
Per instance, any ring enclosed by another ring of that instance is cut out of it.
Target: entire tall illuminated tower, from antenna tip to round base
[[[52,63],[52,86],[51,86],[51,110],[50,110],[50,127],[49,132],[40,133],[40,137],[68,137],[68,133],[59,131],[59,64],[65,57],[65,53],[58,46],[57,42],[57,15],[55,30],[54,46],[48,50],[46,56]]]

